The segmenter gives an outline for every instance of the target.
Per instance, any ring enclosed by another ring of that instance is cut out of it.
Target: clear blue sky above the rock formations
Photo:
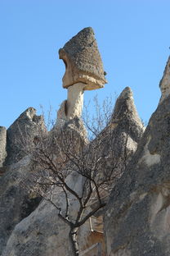
[[[92,26],[108,84],[100,100],[132,88],[140,117],[159,103],[159,80],[170,53],[169,0],[0,0],[0,126],[27,107],[53,115],[66,98],[58,50]]]

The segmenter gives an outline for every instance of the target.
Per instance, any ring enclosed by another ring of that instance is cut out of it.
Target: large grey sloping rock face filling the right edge
[[[161,85],[168,80],[166,66]],[[170,95],[164,95],[110,195],[105,213],[109,256],[170,254]]]

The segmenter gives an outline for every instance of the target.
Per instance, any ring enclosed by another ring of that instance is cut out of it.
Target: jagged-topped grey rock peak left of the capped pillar
[[[7,129],[6,165],[18,162],[25,157],[26,145],[33,143],[34,137],[46,131],[43,117],[36,116],[36,109],[29,107]]]

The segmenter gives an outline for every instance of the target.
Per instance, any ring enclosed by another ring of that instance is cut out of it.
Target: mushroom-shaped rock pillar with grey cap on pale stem
[[[91,27],[81,30],[59,50],[59,57],[65,63],[63,88],[68,89],[66,103],[62,104],[58,118],[81,117],[84,90],[103,88],[105,72]]]

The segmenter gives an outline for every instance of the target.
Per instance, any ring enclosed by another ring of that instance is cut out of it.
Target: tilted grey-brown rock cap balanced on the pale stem
[[[59,50],[59,57],[65,62],[64,88],[79,82],[86,84],[85,90],[104,87],[103,64],[91,27],[81,30],[65,43]]]

